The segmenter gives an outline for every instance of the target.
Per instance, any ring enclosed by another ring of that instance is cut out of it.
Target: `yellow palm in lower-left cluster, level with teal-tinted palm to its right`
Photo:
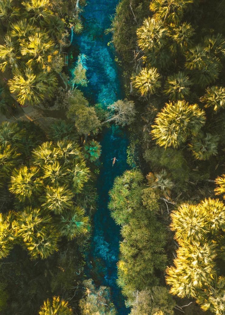
[[[29,243],[33,238],[44,237],[46,227],[52,223],[49,214],[44,214],[40,209],[26,207],[24,211],[16,215],[16,235],[21,237],[25,243]]]

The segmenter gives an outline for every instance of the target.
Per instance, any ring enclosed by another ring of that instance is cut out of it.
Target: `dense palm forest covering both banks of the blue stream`
[[[0,0],[0,311],[116,315],[84,272],[96,209],[97,135],[129,125],[130,170],[108,209],[130,315],[225,314],[225,3],[121,0],[112,42],[126,99],[91,106],[87,56],[62,50],[85,0]],[[17,105],[14,105],[16,102]],[[45,130],[19,106],[63,110]]]

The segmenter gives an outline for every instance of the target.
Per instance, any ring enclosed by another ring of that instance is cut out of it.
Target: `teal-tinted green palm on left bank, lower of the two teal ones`
[[[77,235],[85,233],[89,218],[85,217],[85,210],[79,206],[72,206],[63,212],[59,219],[59,232],[62,236],[72,240]]]

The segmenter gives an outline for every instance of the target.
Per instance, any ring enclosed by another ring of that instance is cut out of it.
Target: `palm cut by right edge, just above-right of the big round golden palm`
[[[218,111],[225,107],[225,88],[211,86],[206,89],[206,94],[200,100],[205,103],[205,107],[213,107],[214,111]]]

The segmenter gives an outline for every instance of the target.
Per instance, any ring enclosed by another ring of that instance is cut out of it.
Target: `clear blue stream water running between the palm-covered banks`
[[[88,86],[82,88],[90,104],[112,104],[124,98],[121,70],[114,61],[115,54],[107,43],[111,36],[104,31],[110,26],[110,15],[115,12],[118,0],[89,0],[82,12],[84,30],[81,35],[75,36],[70,48],[70,54],[77,56],[79,53],[87,56]],[[74,60],[73,67],[76,60]],[[91,248],[87,257],[86,274],[95,280],[97,285],[111,288],[113,303],[119,315],[127,315],[129,309],[124,305],[121,290],[116,285],[119,254],[119,226],[116,226],[107,209],[108,191],[113,185],[116,176],[129,169],[126,163],[128,136],[125,129],[112,126],[104,130],[99,139],[102,145],[100,157],[100,174],[97,180],[99,195],[98,210],[93,223],[93,237]],[[111,159],[116,157],[118,162],[112,167]]]

